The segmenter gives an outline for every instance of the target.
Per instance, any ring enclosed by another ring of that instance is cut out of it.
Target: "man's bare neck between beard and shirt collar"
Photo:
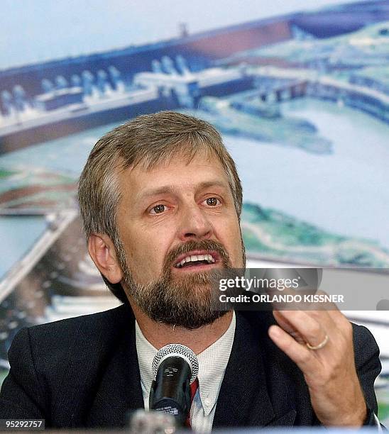
[[[138,308],[132,299],[129,301],[144,337],[157,350],[170,343],[180,343],[189,347],[195,354],[199,354],[226,333],[232,320],[232,311],[229,311],[212,324],[199,328],[173,327],[172,325],[153,321]]]

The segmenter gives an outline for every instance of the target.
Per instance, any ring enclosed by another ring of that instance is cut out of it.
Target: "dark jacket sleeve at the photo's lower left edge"
[[[35,371],[27,328],[13,339],[9,363],[11,369],[0,392],[0,419],[44,419],[43,387]]]

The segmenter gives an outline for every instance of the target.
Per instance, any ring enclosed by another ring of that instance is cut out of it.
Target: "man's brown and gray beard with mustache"
[[[242,240],[241,244],[244,265],[246,256]],[[193,250],[218,252],[221,258],[221,269],[174,276],[172,267],[176,258]],[[121,243],[116,245],[116,253],[124,274],[127,296],[131,296],[138,307],[153,321],[195,329],[213,323],[228,312],[212,308],[217,289],[217,277],[222,272],[232,269],[229,255],[221,243],[214,240],[190,240],[175,247],[165,258],[160,279],[146,285],[138,284],[133,279]]]

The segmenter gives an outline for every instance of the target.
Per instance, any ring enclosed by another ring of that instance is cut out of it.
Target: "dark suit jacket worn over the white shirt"
[[[214,428],[319,424],[300,369],[268,338],[271,323],[271,312],[236,313]],[[366,403],[377,412],[378,346],[358,325],[354,346]],[[45,418],[46,426],[58,428],[115,427],[124,425],[128,409],[143,408],[128,306],[25,328],[13,340],[9,362],[0,418]]]

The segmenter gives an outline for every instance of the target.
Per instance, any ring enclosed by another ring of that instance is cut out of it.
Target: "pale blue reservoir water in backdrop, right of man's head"
[[[339,235],[389,249],[389,126],[347,107],[300,99],[285,116],[307,119],[331,140],[331,155],[235,137],[243,199],[284,211]],[[243,151],[244,150],[244,151]]]

